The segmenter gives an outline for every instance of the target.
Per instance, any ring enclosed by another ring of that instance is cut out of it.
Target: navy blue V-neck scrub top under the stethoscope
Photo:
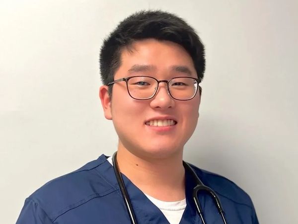
[[[258,224],[250,197],[230,180],[192,166],[220,197],[228,224]],[[169,224],[162,212],[123,175],[139,224]],[[186,209],[180,224],[202,224],[192,199],[195,182],[186,173]],[[207,224],[223,224],[212,198],[200,195]],[[114,169],[105,155],[56,178],[25,201],[16,224],[130,224]]]

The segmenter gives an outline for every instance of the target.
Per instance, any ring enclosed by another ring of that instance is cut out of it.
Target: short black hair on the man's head
[[[115,72],[121,65],[122,49],[129,47],[134,41],[148,38],[172,41],[184,47],[193,60],[198,78],[203,79],[205,50],[195,30],[175,14],[149,10],[130,15],[104,40],[99,56],[104,85],[114,80]],[[109,88],[110,95],[111,89]]]

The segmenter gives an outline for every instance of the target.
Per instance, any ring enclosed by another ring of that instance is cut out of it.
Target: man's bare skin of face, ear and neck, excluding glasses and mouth
[[[136,67],[138,69],[132,69]],[[173,69],[177,67],[186,70]],[[155,39],[136,41],[129,50],[122,50],[121,66],[114,80],[135,75],[159,80],[197,77],[193,61],[182,46]],[[184,199],[183,147],[197,126],[199,92],[191,100],[175,100],[162,82],[153,98],[136,100],[129,96],[125,81],[121,81],[114,84],[112,99],[106,85],[100,87],[99,96],[105,118],[113,121],[119,137],[117,161],[120,171],[156,199]],[[152,118],[165,116],[170,116],[177,124],[168,129],[145,124]]]

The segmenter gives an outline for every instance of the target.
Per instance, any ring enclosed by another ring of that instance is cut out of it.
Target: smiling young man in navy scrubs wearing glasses
[[[104,115],[119,136],[114,164],[101,155],[50,181],[26,199],[17,224],[258,224],[243,190],[192,166],[219,197],[225,221],[208,194],[195,194],[197,212],[197,178],[182,155],[199,117],[205,58],[185,21],[162,11],[129,16],[104,41],[100,70]]]

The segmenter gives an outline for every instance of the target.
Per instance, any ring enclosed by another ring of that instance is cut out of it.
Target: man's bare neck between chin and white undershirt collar
[[[141,191],[161,201],[185,198],[185,171],[182,150],[166,158],[136,156],[119,143],[117,162],[120,171]]]

